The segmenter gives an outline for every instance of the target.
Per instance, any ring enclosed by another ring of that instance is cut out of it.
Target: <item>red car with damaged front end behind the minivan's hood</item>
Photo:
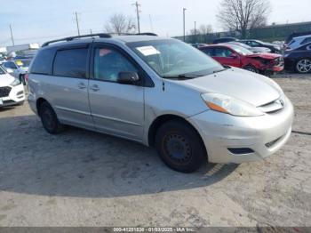
[[[215,44],[199,48],[222,65],[244,68],[263,75],[280,72],[283,56],[275,53],[254,53],[235,44]]]

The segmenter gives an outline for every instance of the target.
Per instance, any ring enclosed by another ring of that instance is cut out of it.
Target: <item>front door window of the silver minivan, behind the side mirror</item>
[[[138,73],[138,70],[132,65],[130,60],[114,48],[99,47],[95,49],[95,79],[116,82],[120,72]]]

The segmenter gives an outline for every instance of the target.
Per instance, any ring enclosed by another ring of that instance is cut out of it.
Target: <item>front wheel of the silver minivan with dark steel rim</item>
[[[156,132],[156,150],[165,165],[180,173],[193,173],[207,160],[203,141],[182,121],[163,124]]]

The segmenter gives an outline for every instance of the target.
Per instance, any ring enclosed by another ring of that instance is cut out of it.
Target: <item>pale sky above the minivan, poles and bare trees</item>
[[[215,17],[221,0],[140,0],[141,31],[160,36],[182,35],[182,8],[187,8],[186,28],[211,24],[222,28]],[[82,33],[102,32],[115,12],[132,16],[136,22],[135,0],[0,0],[0,47],[11,45],[9,25],[15,44],[43,43],[46,40],[77,34],[74,12],[79,13]],[[269,23],[311,21],[310,0],[271,0]],[[150,20],[151,19],[151,20]]]

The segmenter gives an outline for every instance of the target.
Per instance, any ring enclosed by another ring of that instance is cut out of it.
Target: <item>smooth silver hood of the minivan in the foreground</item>
[[[214,75],[183,82],[199,92],[226,94],[256,107],[277,100],[281,95],[274,86],[274,81],[241,68],[230,68]]]

